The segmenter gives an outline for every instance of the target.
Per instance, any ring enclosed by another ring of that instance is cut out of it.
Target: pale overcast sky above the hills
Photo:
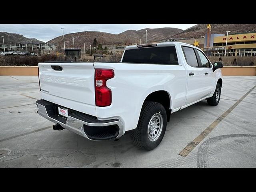
[[[126,30],[144,28],[173,27],[185,30],[196,24],[0,24],[0,31],[22,34],[27,38],[36,38],[47,42],[64,34],[82,31],[100,31],[119,34]]]

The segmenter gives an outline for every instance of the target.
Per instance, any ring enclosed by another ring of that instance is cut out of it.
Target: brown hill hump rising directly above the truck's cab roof
[[[157,28],[157,29],[141,29],[141,30],[127,30],[124,31],[122,33],[120,33],[120,35],[124,35],[126,37],[134,37],[134,38],[138,38],[138,39],[142,39],[142,43],[145,43],[144,41],[146,40],[146,32],[145,30],[147,30],[147,43],[150,42],[160,42],[162,40],[168,39],[168,38],[172,38],[172,36],[174,36],[177,33],[182,32],[182,29],[178,29],[178,28],[170,28],[170,27],[165,27],[165,28]]]

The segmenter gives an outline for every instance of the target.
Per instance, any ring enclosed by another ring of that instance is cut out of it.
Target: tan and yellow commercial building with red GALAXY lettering
[[[229,33],[228,36],[225,34],[211,34],[210,41],[205,41],[202,50],[207,56],[222,57],[225,50],[226,56],[256,56],[256,32]]]

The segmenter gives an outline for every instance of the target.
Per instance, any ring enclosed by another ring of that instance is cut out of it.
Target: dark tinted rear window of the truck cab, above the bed
[[[175,46],[128,49],[122,62],[178,65]]]

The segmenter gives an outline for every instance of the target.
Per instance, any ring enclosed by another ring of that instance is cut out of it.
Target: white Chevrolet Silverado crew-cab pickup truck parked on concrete
[[[121,62],[39,63],[38,114],[56,123],[54,130],[90,140],[130,132],[136,146],[152,150],[170,114],[204,99],[219,103],[222,67],[181,42],[127,46]]]

